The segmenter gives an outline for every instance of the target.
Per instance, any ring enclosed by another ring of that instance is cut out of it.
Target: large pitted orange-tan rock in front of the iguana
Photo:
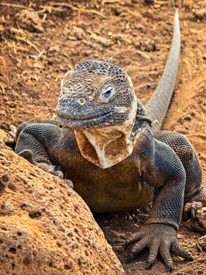
[[[125,274],[84,201],[1,141],[0,274]]]

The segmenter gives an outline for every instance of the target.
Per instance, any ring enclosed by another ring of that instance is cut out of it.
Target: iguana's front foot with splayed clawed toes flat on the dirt
[[[129,261],[131,262],[135,255],[140,253],[144,248],[149,248],[149,257],[146,269],[149,270],[157,258],[158,251],[165,263],[168,272],[172,271],[173,260],[170,251],[176,255],[193,261],[192,254],[182,249],[177,240],[175,228],[166,224],[150,224],[143,226],[138,233],[132,234],[125,242],[125,249],[131,244],[136,243],[131,251]]]

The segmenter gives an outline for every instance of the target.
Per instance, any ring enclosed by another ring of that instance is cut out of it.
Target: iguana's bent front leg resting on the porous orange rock
[[[49,145],[50,140],[53,140],[54,144],[56,144],[58,142],[60,132],[61,129],[55,125],[29,123],[23,127],[19,133],[15,152],[45,172],[63,179],[63,167],[59,165],[58,159],[54,157],[51,159],[49,157],[49,149],[47,150],[46,146],[47,143]],[[69,185],[69,187],[73,188],[73,183],[70,180],[64,181],[67,185]]]

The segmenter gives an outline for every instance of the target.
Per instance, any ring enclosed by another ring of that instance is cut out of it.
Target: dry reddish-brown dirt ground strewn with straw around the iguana
[[[16,13],[23,7],[13,3],[26,5],[27,15],[28,6],[38,11],[43,29],[21,25],[19,16],[23,15]],[[1,3],[0,128],[7,131],[9,125],[19,126],[25,120],[54,118],[62,76],[85,59],[113,56],[114,63],[131,76],[137,96],[146,103],[169,53],[172,5],[169,0],[157,0],[154,4],[144,0]],[[180,12],[182,53],[163,129],[184,133],[191,140],[206,178],[206,1],[180,0],[176,5]],[[129,233],[144,223],[148,210],[149,207],[133,213],[95,215],[127,275],[167,273],[160,257],[150,271],[145,270],[148,251],[129,263],[128,251],[121,245]],[[181,245],[192,251],[195,261],[189,263],[174,256],[173,274],[206,274],[206,255],[196,246],[201,235],[189,232],[183,222],[179,234]]]

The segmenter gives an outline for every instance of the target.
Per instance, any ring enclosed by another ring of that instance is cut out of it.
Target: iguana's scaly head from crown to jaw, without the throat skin
[[[86,60],[64,75],[56,107],[63,127],[105,128],[127,120],[136,96],[130,77],[111,61]]]

